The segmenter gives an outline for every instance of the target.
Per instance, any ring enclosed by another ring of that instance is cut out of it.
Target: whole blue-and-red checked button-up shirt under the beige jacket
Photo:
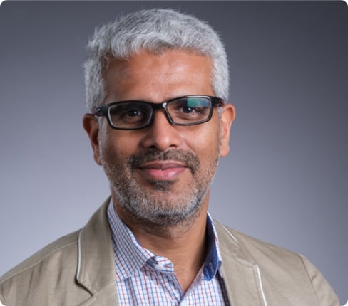
[[[108,206],[120,305],[230,305],[222,279],[213,220],[208,215],[208,255],[187,292],[175,278],[173,263],[140,246],[131,230]]]

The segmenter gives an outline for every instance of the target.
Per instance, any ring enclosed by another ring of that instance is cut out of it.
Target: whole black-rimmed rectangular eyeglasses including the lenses
[[[106,116],[108,123],[116,130],[138,130],[153,122],[155,110],[164,109],[172,125],[199,125],[213,115],[213,107],[224,105],[224,100],[208,95],[176,97],[163,103],[143,101],[113,102],[96,107],[93,115]]]

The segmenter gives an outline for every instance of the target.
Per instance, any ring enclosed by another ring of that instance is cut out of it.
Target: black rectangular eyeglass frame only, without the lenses
[[[205,120],[200,120],[198,122],[192,122],[192,123],[176,123],[176,122],[174,122],[172,117],[170,117],[169,111],[167,110],[168,103],[175,101],[175,100],[180,100],[183,98],[191,98],[191,97],[202,97],[202,98],[208,98],[210,100],[211,107],[210,107],[210,112],[209,112],[208,117]],[[142,125],[140,127],[116,127],[115,125],[113,125],[113,122],[111,121],[111,117],[109,115],[110,113],[108,112],[109,107],[111,107],[113,105],[125,103],[125,102],[136,102],[136,103],[141,103],[141,104],[145,104],[145,105],[150,105],[151,113],[150,113],[148,122],[146,122],[145,125]],[[170,100],[162,102],[162,103],[145,102],[145,101],[140,101],[140,100],[126,100],[126,101],[112,102],[112,103],[108,103],[106,105],[101,105],[99,107],[96,107],[96,109],[94,110],[94,112],[92,114],[95,116],[98,116],[98,117],[105,116],[106,119],[108,120],[108,124],[110,125],[110,127],[112,127],[115,130],[140,130],[140,129],[144,129],[145,127],[148,127],[152,124],[153,114],[154,114],[155,110],[160,110],[160,109],[165,110],[165,116],[167,117],[168,121],[172,125],[189,126],[189,125],[200,125],[202,123],[208,122],[213,116],[213,108],[215,106],[221,107],[222,105],[225,105],[225,101],[220,97],[213,97],[210,95],[184,95],[183,97],[175,97],[174,99],[170,99]]]

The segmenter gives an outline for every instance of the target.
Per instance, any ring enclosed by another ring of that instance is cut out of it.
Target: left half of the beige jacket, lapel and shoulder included
[[[115,305],[107,206],[108,200],[81,230],[59,238],[0,278],[0,305]]]

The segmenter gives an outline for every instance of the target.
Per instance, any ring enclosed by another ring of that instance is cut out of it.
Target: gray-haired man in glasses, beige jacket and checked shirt
[[[339,305],[302,255],[208,214],[235,117],[213,29],[175,11],[139,11],[99,28],[88,48],[83,127],[111,199],[4,275],[1,303]]]

